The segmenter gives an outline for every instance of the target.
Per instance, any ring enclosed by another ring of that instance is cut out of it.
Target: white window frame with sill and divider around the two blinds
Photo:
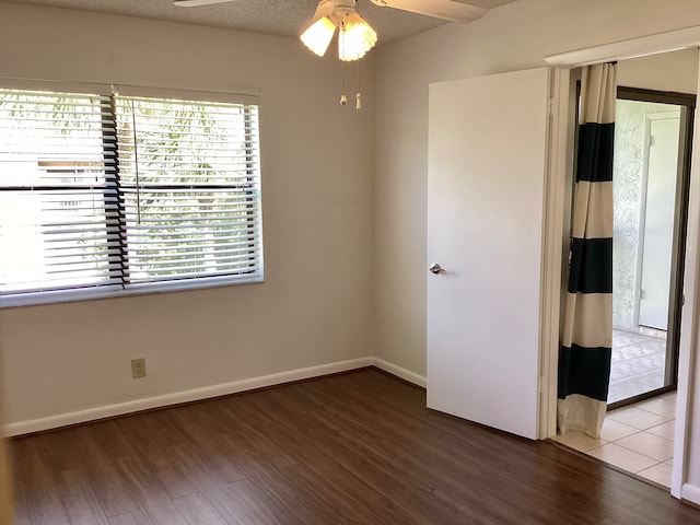
[[[188,90],[173,90],[173,89],[159,89],[159,88],[140,88],[132,85],[115,85],[115,84],[94,84],[94,83],[74,83],[74,82],[56,82],[56,81],[24,81],[16,79],[7,79],[0,77],[0,88],[5,90],[25,90],[25,91],[43,91],[55,93],[69,93],[69,94],[95,94],[101,96],[109,96],[112,103],[112,116],[115,117],[114,122],[110,122],[113,127],[112,131],[116,137],[116,96],[128,97],[147,97],[147,98],[160,98],[160,100],[177,100],[187,103],[224,103],[224,104],[241,104],[244,109],[245,119],[245,152],[246,159],[255,158],[254,162],[246,161],[247,177],[245,180],[252,185],[252,189],[247,191],[247,201],[255,201],[255,205],[250,206],[253,211],[252,222],[246,226],[252,234],[249,236],[252,242],[250,253],[256,258],[256,265],[252,267],[250,272],[237,272],[235,275],[225,276],[206,276],[206,277],[184,277],[175,278],[172,280],[155,280],[151,282],[128,282],[128,247],[125,242],[118,243],[118,247],[109,247],[107,257],[107,264],[113,264],[121,268],[120,276],[106,284],[85,284],[75,285],[74,288],[43,290],[43,291],[28,291],[20,293],[3,293],[0,292],[0,310],[5,307],[16,306],[30,306],[50,303],[62,302],[75,302],[95,299],[107,298],[120,298],[130,295],[141,295],[150,293],[163,293],[187,290],[200,290],[209,288],[219,288],[224,285],[240,285],[265,282],[265,264],[264,264],[264,245],[262,245],[262,190],[261,190],[261,163],[260,163],[260,96],[255,92],[242,92],[242,93],[217,93],[206,91],[188,91]],[[253,107],[257,106],[256,124],[257,128],[257,141],[256,137],[248,132],[248,125],[253,119]],[[104,136],[104,133],[103,133]],[[104,143],[104,142],[103,142]],[[106,152],[106,149],[103,149]],[[124,195],[122,187],[119,184],[119,170],[118,170],[118,156],[116,159],[115,174],[112,179],[107,177],[104,187],[100,194],[103,198],[106,198],[109,189],[116,189],[119,207],[119,235],[126,240],[127,235],[127,222],[122,217],[124,211]],[[112,188],[110,188],[112,185]],[[155,188],[162,188],[158,184],[153,185]],[[226,185],[228,188],[241,186],[240,184]],[[197,185],[190,185],[190,189],[197,189]],[[28,187],[27,187],[28,188]],[[32,187],[34,189],[36,187]],[[60,191],[62,186],[50,186],[47,188],[50,191]],[[5,187],[5,190],[18,190],[20,187]],[[65,188],[63,188],[65,189]],[[75,190],[75,186],[68,188]],[[140,190],[144,190],[143,185],[140,186]],[[202,188],[203,189],[203,188]],[[211,186],[207,186],[207,189],[211,189]],[[95,194],[97,195],[97,194]],[[108,220],[105,220],[105,232],[109,224]],[[108,234],[108,233],[106,233]],[[253,246],[253,243],[257,243],[257,247]],[[119,282],[120,281],[120,282]]]

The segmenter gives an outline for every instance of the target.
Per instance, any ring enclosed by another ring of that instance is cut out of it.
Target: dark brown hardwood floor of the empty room
[[[375,370],[13,442],[18,524],[692,524],[545,442],[425,409]]]

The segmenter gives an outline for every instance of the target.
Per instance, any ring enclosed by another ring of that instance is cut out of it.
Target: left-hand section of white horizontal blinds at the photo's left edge
[[[0,91],[0,101],[2,293],[110,284],[109,98]]]

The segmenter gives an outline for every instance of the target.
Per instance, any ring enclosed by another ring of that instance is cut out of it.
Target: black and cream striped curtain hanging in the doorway
[[[598,438],[612,346],[612,148],[616,67],[583,71],[571,261],[559,353],[558,427]]]

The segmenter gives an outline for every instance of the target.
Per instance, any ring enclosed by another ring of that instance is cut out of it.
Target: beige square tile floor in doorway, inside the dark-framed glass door
[[[608,412],[599,440],[583,432],[555,441],[670,488],[676,393]]]

